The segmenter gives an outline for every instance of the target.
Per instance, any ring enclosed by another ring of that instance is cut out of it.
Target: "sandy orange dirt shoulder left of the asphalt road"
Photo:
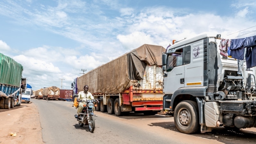
[[[34,103],[0,109],[0,143],[43,144],[39,114]],[[11,136],[10,133],[17,136]]]

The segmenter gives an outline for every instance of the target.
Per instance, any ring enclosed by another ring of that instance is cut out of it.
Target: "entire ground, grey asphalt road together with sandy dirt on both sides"
[[[69,101],[32,99],[29,104],[22,103],[20,108],[0,111],[0,122],[13,119],[16,115],[15,118],[19,122],[18,127],[13,126],[17,123],[15,121],[11,125],[0,125],[1,130],[5,130],[0,131],[0,142],[17,143],[22,140],[20,143],[47,144],[256,143],[256,128],[233,132],[221,127],[213,129],[212,132],[188,135],[177,131],[173,117],[132,113],[129,116],[117,117],[96,111],[96,128],[91,133],[88,132],[88,126],[79,126],[74,117],[76,109],[72,106],[73,102]],[[22,125],[23,128],[19,128]],[[9,132],[15,131],[19,131],[17,137],[8,135]]]

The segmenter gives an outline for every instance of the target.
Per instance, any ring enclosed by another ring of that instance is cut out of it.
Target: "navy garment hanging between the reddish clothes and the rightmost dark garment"
[[[237,60],[244,60],[244,41],[245,38],[231,39],[230,55]]]

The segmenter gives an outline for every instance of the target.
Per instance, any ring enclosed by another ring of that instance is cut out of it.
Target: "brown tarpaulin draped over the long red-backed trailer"
[[[165,48],[162,46],[144,44],[78,77],[78,92],[83,91],[85,84],[89,86],[91,93],[123,92],[138,84],[139,80],[145,79],[145,69],[148,66],[159,66],[161,71],[163,52]],[[162,81],[155,81],[154,85],[156,83],[162,85]]]

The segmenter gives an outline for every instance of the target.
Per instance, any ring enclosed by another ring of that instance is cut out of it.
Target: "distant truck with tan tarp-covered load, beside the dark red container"
[[[43,89],[44,100],[58,100],[60,98],[60,88],[56,86]]]

